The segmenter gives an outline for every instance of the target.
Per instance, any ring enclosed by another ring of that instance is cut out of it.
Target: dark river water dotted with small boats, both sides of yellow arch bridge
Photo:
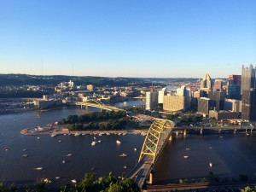
[[[80,109],[17,113],[0,116],[0,179],[7,183],[30,184],[47,177],[53,185],[81,179],[84,172],[98,176],[113,172],[125,175],[136,164],[145,137],[139,135],[96,136],[102,143],[92,147],[94,136],[24,136],[20,130],[53,123],[69,114],[86,113]],[[171,183],[178,178],[204,177],[210,171],[220,177],[238,177],[246,173],[255,178],[256,136],[245,134],[187,135],[172,137],[155,166],[154,182]],[[118,146],[116,140],[121,144]],[[61,142],[59,142],[61,141]],[[211,147],[211,148],[210,148]],[[9,150],[5,150],[8,148]],[[23,149],[26,148],[26,152]],[[137,152],[134,151],[137,148]],[[186,151],[186,148],[190,150]],[[119,157],[119,154],[128,154]],[[23,158],[22,154],[28,154]],[[73,156],[67,157],[67,154]],[[183,156],[189,158],[184,159]],[[66,163],[62,163],[65,160]],[[42,171],[34,168],[42,166]],[[127,166],[127,169],[124,168]],[[91,170],[95,168],[94,170]],[[55,177],[61,177],[55,180]]]

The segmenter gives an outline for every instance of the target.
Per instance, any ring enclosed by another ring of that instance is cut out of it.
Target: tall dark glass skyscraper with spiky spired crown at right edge
[[[256,67],[241,68],[241,118],[256,121]]]

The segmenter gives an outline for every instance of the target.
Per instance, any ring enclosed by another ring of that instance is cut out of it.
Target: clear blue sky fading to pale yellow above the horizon
[[[0,0],[0,73],[227,78],[256,66],[255,0]]]

